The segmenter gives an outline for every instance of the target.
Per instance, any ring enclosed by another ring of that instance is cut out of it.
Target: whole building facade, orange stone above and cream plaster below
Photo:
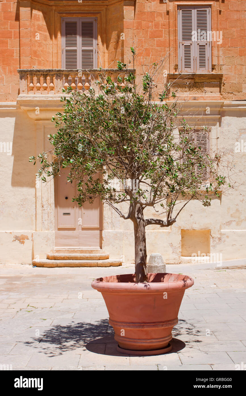
[[[186,118],[210,130],[209,148],[234,157],[238,187],[210,208],[192,202],[169,228],[146,228],[147,253],[167,263],[205,255],[245,258],[246,3],[242,0],[32,0],[0,2],[0,262],[31,264],[55,251],[100,251],[134,261],[131,221],[99,201],[75,206],[64,174],[36,180],[31,155],[49,150],[62,88],[117,77],[137,48],[135,73],[166,55]],[[170,99],[171,103],[171,99]],[[124,209],[124,208],[123,208]],[[147,211],[147,209],[146,209]],[[146,213],[153,217],[152,212]],[[221,256],[222,255],[222,256]]]

